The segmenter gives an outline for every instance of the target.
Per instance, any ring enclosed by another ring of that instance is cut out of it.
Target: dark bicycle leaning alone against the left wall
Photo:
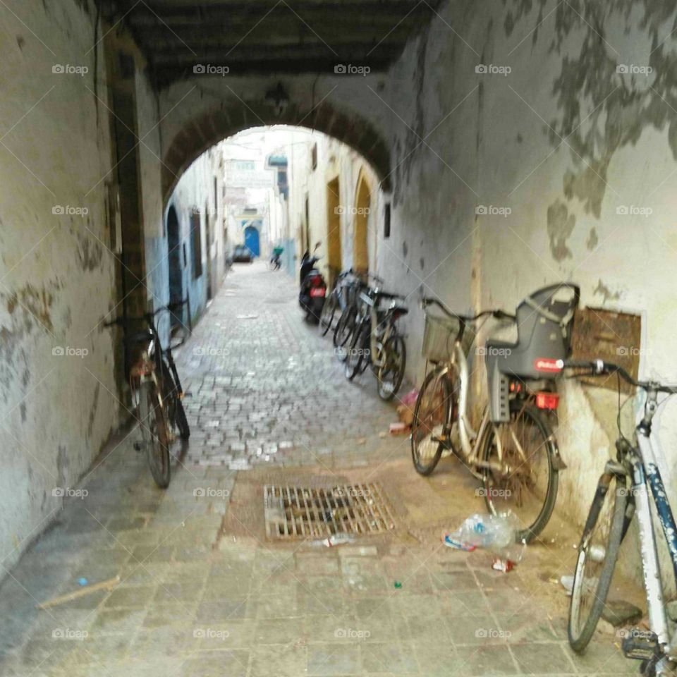
[[[105,327],[121,325],[125,332],[128,331],[129,322],[147,324],[147,331],[125,336],[125,340],[128,345],[145,344],[138,360],[130,368],[129,380],[132,401],[138,412],[142,445],[153,479],[161,489],[169,486],[171,478],[169,446],[176,439],[177,432],[178,437],[187,440],[190,427],[183,409],[181,380],[172,356],[172,350],[183,345],[186,337],[174,346],[163,348],[155,317],[164,311],[176,312],[185,303],[170,303],[138,317],[120,317],[104,323]]]

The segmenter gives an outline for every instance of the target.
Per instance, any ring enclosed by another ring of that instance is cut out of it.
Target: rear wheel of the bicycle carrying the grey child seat
[[[549,423],[533,405],[513,401],[510,418],[509,423],[490,426],[484,437],[482,461],[505,468],[482,470],[484,501],[494,514],[512,511],[520,525],[517,539],[528,543],[542,532],[555,506],[559,484],[556,446]]]

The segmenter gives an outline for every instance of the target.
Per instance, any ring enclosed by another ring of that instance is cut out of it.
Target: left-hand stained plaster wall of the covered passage
[[[0,559],[7,567],[58,515],[57,489],[74,487],[90,466],[117,425],[118,406],[111,333],[97,326],[114,305],[114,258],[106,245],[111,153],[96,11],[91,2],[8,0],[0,14]]]

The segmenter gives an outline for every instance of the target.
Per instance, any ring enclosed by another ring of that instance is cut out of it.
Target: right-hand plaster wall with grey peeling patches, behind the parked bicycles
[[[380,262],[386,279],[425,283],[460,310],[511,310],[544,283],[576,281],[584,305],[641,309],[642,346],[629,346],[641,349],[640,373],[677,381],[675,10],[673,0],[441,8],[391,72],[396,253]],[[420,379],[420,313],[408,322]],[[576,384],[563,393],[570,468],[559,506],[582,523],[616,437],[616,396]],[[677,501],[674,413],[672,403],[659,437]],[[623,561],[636,575],[628,542]]]

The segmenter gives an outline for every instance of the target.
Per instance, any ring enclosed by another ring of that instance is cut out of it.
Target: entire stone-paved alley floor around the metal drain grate
[[[553,580],[571,573],[575,536],[507,575],[441,546],[441,525],[476,508],[472,481],[449,463],[415,475],[408,442],[383,435],[394,407],[370,374],[346,382],[283,273],[236,267],[179,364],[193,435],[169,489],[135,432],[111,445],[0,587],[2,676],[635,673],[611,635],[568,649]],[[303,473],[379,480],[396,528],[332,548],[267,542],[260,484]]]

